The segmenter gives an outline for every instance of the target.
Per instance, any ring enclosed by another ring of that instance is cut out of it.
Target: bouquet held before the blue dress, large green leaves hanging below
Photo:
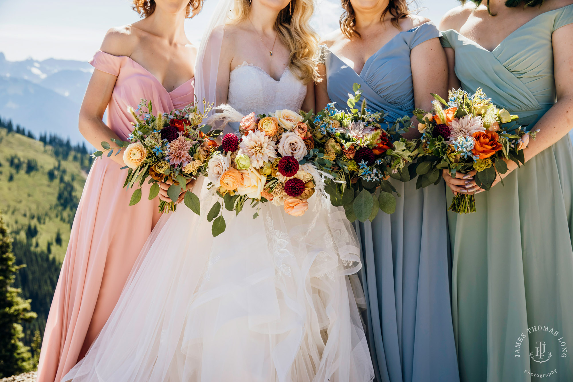
[[[401,137],[408,131],[408,116],[386,123],[387,114],[368,110],[366,100],[360,103],[359,84],[352,90],[347,102],[350,110],[328,104],[315,117],[312,135],[324,153],[321,169],[333,177],[325,189],[332,205],[344,206],[351,222],[364,222],[374,220],[380,209],[395,211],[396,189],[387,179],[409,181],[406,164],[416,150],[414,141]]]

